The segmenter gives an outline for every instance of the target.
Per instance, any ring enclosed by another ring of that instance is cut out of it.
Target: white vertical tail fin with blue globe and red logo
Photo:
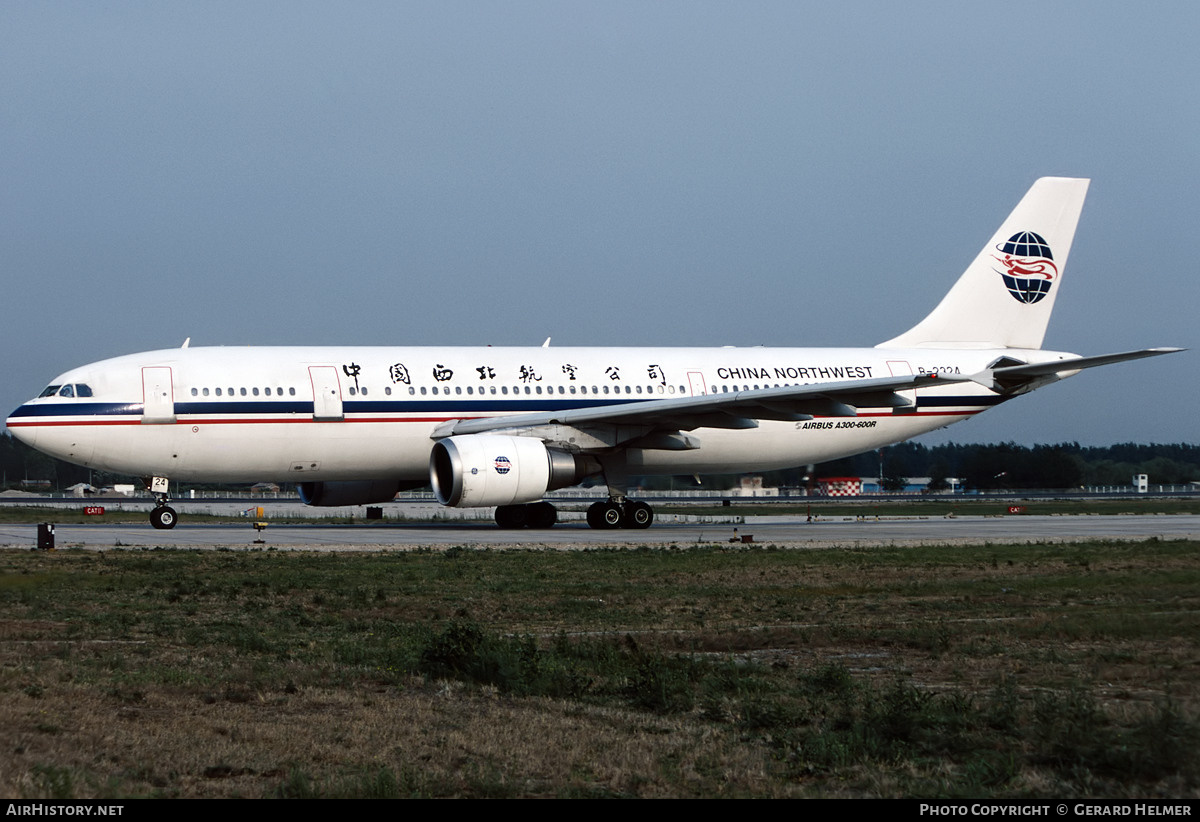
[[[1040,348],[1087,184],[1034,182],[937,307],[876,348]]]

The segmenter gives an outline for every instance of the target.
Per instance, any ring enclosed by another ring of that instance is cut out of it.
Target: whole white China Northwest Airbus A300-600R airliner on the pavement
[[[966,420],[1082,368],[1181,350],[1044,350],[1088,180],[1037,180],[942,301],[874,348],[191,347],[56,377],[7,419],[40,451],[170,482],[294,482],[310,505],[433,487],[502,528],[646,528],[630,478],[824,462]]]

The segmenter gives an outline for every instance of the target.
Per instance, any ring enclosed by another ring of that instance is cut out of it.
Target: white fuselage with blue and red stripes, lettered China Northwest
[[[83,386],[23,404],[8,428],[84,466],[187,481],[428,476],[448,420],[592,408],[888,376],[973,374],[1027,349],[878,348],[179,348],[70,371]],[[49,389],[48,389],[49,391]],[[1000,396],[971,382],[914,391],[906,408],[696,428],[698,448],[630,448],[632,474],[768,470],[896,443]],[[80,396],[84,395],[84,396]],[[86,396],[90,395],[90,396]]]

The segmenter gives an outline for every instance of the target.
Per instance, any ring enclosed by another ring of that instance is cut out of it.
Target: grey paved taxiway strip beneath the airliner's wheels
[[[47,522],[53,522],[48,517]],[[709,522],[674,522],[662,517],[647,530],[593,530],[582,523],[560,523],[547,530],[500,530],[490,523],[364,523],[354,526],[269,526],[259,534],[251,524],[209,526],[186,521],[173,530],[149,524],[55,526],[59,548],[276,548],[308,551],[380,551],[414,547],[510,546],[578,550],[598,546],[695,545],[712,542],[774,544],[787,547],[869,545],[986,545],[989,542],[1064,542],[1075,540],[1200,539],[1200,516],[964,516],[964,517],[830,517],[808,522],[803,516],[746,517]],[[256,542],[256,539],[263,540]],[[31,548],[36,524],[0,526],[0,546]]]

